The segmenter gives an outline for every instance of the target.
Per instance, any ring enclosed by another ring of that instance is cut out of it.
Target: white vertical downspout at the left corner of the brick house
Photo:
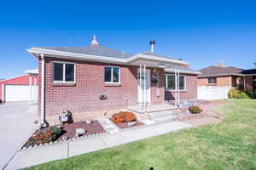
[[[41,54],[41,124],[40,127],[46,127],[45,123],[45,112],[44,112],[44,54]]]

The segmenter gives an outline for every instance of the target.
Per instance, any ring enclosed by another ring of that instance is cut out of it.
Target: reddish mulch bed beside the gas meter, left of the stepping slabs
[[[73,122],[71,124],[63,125],[62,127],[62,130],[65,133],[63,133],[58,140],[62,140],[64,137],[68,137],[68,139],[74,138],[77,128],[84,128],[86,130],[84,136],[96,133],[105,133],[102,125],[97,121],[93,121],[90,124],[87,124],[86,122]]]

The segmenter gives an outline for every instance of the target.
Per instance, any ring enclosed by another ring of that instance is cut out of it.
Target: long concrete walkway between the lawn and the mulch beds
[[[45,147],[20,150],[15,154],[14,158],[9,162],[5,169],[9,170],[31,167],[48,161],[77,156],[119,144],[125,144],[164,133],[170,133],[186,127],[191,126],[184,122],[165,122],[150,126],[125,129],[118,133],[81,138]]]

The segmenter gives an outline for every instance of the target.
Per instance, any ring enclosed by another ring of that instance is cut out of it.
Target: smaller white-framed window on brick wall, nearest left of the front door
[[[120,82],[120,68],[113,66],[104,67],[104,82],[119,83]]]

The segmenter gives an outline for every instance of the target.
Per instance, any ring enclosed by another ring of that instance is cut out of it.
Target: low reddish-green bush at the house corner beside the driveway
[[[58,139],[60,134],[61,128],[59,127],[47,127],[41,130],[37,130],[36,133],[34,133],[24,145],[28,147],[31,145],[53,142]]]

